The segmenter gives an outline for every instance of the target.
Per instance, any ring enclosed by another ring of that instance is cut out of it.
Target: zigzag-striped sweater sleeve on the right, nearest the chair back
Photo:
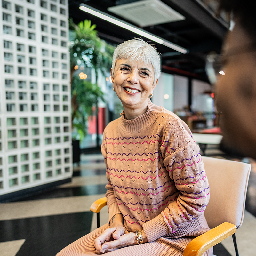
[[[161,214],[143,224],[149,242],[168,233],[173,237],[184,236],[194,230],[198,224],[196,218],[203,214],[208,204],[209,184],[200,148],[193,139],[190,142],[182,148],[174,149],[170,143],[162,148],[164,166],[179,196]]]

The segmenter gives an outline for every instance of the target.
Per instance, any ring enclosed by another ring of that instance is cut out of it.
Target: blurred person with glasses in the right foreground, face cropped
[[[218,111],[223,113],[220,123],[223,132],[222,142],[224,147],[236,152],[236,155],[256,159],[255,2],[218,2],[220,10],[231,12],[235,22],[234,28],[226,36],[222,54],[210,58],[210,65],[208,62],[209,66],[215,66],[217,74],[213,83],[216,106]],[[218,74],[219,71],[224,73]]]

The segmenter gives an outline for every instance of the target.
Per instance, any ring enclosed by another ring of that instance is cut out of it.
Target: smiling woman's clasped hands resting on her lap
[[[137,244],[136,234],[133,232],[124,234],[124,231],[124,227],[121,226],[106,229],[94,241],[95,253],[102,254]]]

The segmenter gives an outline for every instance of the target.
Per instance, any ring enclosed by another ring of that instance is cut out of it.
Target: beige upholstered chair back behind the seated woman
[[[239,228],[251,165],[206,156],[202,159],[210,186],[210,201],[204,212],[209,227],[230,222]]]

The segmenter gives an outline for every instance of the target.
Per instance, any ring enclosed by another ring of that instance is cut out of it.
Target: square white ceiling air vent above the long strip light
[[[130,20],[140,27],[185,20],[183,15],[160,0],[143,0],[116,5],[109,7],[108,11]]]

